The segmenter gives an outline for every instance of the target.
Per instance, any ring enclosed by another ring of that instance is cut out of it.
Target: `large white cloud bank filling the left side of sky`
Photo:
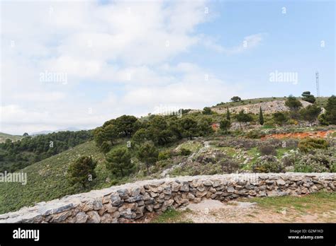
[[[196,33],[207,21],[205,6],[1,2],[0,131],[93,128],[123,114],[145,115],[160,104],[196,108],[228,99],[240,88],[197,64],[172,62],[205,40]],[[262,37],[245,40],[255,47]],[[45,71],[67,74],[67,83],[40,81]]]

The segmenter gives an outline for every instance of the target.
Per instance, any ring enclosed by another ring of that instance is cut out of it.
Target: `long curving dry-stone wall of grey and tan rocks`
[[[175,177],[75,194],[0,216],[0,223],[124,223],[145,213],[202,199],[335,192],[336,173],[268,173]]]

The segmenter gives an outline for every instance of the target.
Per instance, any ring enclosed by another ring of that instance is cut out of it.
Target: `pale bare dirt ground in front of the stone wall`
[[[335,210],[323,212],[296,211],[284,208],[280,211],[262,209],[256,203],[231,201],[222,203],[204,200],[199,204],[189,204],[182,213],[181,220],[194,223],[335,223]]]

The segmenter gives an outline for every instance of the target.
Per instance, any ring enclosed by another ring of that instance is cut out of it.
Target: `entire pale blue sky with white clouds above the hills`
[[[0,1],[0,131],[336,94],[335,1]]]

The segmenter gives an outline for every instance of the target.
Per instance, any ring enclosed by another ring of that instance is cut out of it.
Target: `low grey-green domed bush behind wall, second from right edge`
[[[253,172],[284,172],[284,166],[274,156],[262,156],[252,165]]]

